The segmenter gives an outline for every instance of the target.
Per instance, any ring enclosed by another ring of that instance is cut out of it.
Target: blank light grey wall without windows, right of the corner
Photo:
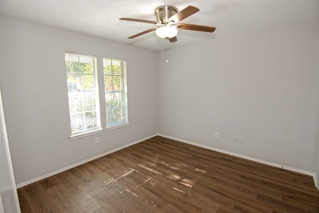
[[[313,21],[169,49],[167,63],[158,52],[159,133],[315,172],[318,27]]]

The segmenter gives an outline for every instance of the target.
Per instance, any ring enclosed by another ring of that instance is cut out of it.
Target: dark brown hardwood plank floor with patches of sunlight
[[[156,136],[18,189],[22,213],[317,213],[313,177]]]

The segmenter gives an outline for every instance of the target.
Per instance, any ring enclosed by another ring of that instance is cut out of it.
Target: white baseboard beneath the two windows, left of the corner
[[[50,176],[56,175],[56,174],[58,174],[58,173],[64,172],[64,171],[66,171],[66,170],[72,169],[72,168],[74,168],[74,167],[80,166],[80,165],[85,164],[85,163],[87,163],[87,162],[89,162],[89,161],[93,161],[93,160],[98,159],[98,158],[101,158],[101,157],[103,157],[103,156],[105,156],[105,155],[108,155],[108,154],[111,154],[111,153],[113,153],[113,152],[119,151],[119,150],[124,149],[124,148],[126,148],[126,147],[129,147],[129,146],[132,146],[132,145],[134,145],[134,144],[137,144],[137,143],[140,143],[140,142],[142,142],[142,141],[145,141],[145,140],[147,140],[147,139],[153,138],[153,137],[155,137],[155,136],[157,136],[157,135],[158,135],[158,134],[151,135],[151,136],[149,136],[149,137],[146,137],[146,138],[143,138],[143,139],[141,139],[141,140],[132,142],[132,143],[130,143],[130,144],[121,146],[121,147],[119,147],[119,148],[110,150],[110,151],[108,151],[108,152],[102,153],[102,154],[97,155],[97,156],[94,156],[94,157],[92,157],[92,158],[88,158],[88,159],[86,159],[86,160],[80,161],[80,162],[78,162],[78,163],[72,164],[72,165],[67,166],[67,167],[64,167],[64,168],[62,168],[62,169],[59,169],[59,170],[50,172],[50,173],[48,173],[48,174],[42,175],[42,176],[40,176],[40,177],[31,179],[31,180],[29,180],[29,181],[26,181],[26,182],[17,184],[17,185],[16,185],[16,188],[18,189],[18,188],[24,187],[24,186],[29,185],[29,184],[32,184],[32,183],[34,183],[34,182],[40,181],[40,180],[42,180],[42,179],[45,179],[45,178],[48,178],[48,177],[50,177]]]

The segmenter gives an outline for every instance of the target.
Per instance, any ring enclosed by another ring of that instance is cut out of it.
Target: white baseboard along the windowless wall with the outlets
[[[278,167],[278,168],[282,168],[282,169],[285,169],[285,170],[289,170],[289,171],[301,173],[301,174],[304,174],[304,175],[312,176],[312,177],[314,177],[315,186],[319,189],[318,178],[317,178],[316,173],[314,173],[314,172],[308,172],[308,171],[305,171],[305,170],[300,170],[300,169],[296,169],[296,168],[293,168],[293,167],[288,167],[288,166],[284,166],[284,165],[280,165],[280,164],[276,164],[276,163],[260,160],[260,159],[257,159],[257,158],[251,158],[251,157],[248,157],[248,156],[240,155],[240,154],[233,153],[233,152],[228,152],[228,151],[221,150],[221,149],[216,149],[216,148],[213,148],[213,147],[209,147],[209,146],[205,146],[205,145],[202,145],[202,144],[193,143],[193,142],[190,142],[190,141],[186,141],[186,140],[182,140],[182,139],[179,139],[179,138],[170,137],[170,136],[167,136],[167,135],[162,135],[162,134],[158,134],[158,135],[162,136],[164,138],[169,138],[169,139],[172,139],[172,140],[180,141],[180,142],[183,142],[183,143],[186,143],[186,144],[191,144],[191,145],[194,145],[194,146],[197,146],[197,147],[202,147],[202,148],[205,148],[205,149],[213,150],[213,151],[224,153],[224,154],[227,154],[227,155],[232,155],[232,156],[236,156],[236,157],[239,157],[239,158],[247,159],[247,160],[250,160],[250,161],[258,162],[258,163],[261,163],[261,164],[266,164],[266,165],[269,165],[269,166]]]

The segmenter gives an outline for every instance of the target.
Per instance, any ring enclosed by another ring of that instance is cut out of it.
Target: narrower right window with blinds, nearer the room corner
[[[126,61],[103,58],[106,127],[128,123]]]

